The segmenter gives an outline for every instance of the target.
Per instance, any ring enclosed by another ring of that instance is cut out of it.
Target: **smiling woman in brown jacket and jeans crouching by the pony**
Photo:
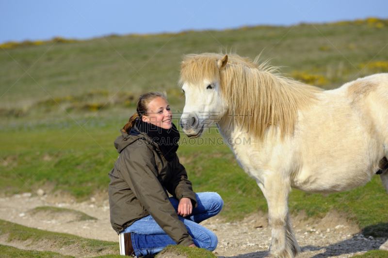
[[[154,255],[169,244],[213,251],[217,237],[198,223],[221,211],[221,196],[193,192],[176,153],[179,132],[165,95],[144,94],[136,111],[114,142],[120,156],[108,174],[111,224],[120,236],[120,253]]]

